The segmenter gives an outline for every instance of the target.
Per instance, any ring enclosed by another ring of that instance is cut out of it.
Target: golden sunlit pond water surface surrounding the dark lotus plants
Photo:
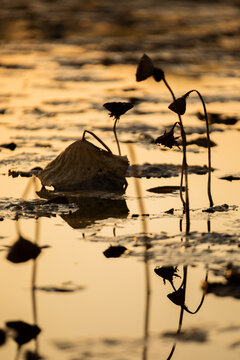
[[[239,2],[83,3],[3,4],[0,357],[237,360]],[[205,137],[205,122],[192,94],[183,116],[187,234],[179,196],[182,147],[153,143],[177,115],[162,82],[136,82],[144,52],[163,68],[177,97],[191,89],[202,94],[211,120],[215,207],[209,211],[207,148],[196,141]],[[51,202],[37,178],[12,176],[44,168],[85,129],[117,154],[113,120],[103,107],[110,101],[134,105],[117,125],[130,161],[124,193],[54,192],[51,197],[69,201]],[[14,150],[5,146],[10,143]],[[35,260],[7,260],[19,233],[41,247]]]

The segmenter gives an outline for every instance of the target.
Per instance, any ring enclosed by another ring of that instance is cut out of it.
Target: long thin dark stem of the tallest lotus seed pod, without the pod
[[[176,100],[176,97],[169,86],[168,82],[166,81],[165,77],[163,78],[163,82],[170,91],[173,101]],[[183,145],[183,163],[182,163],[182,171],[181,171],[181,181],[180,181],[180,198],[182,200],[185,214],[186,214],[186,233],[189,233],[190,229],[190,216],[189,216],[189,194],[188,194],[188,165],[187,165],[187,155],[186,155],[186,149],[187,149],[187,141],[186,141],[186,133],[183,127],[183,122],[181,115],[178,114],[180,129],[181,129],[181,137],[182,137],[182,145]],[[182,195],[182,188],[183,188],[183,173],[185,174],[185,201],[183,199]]]

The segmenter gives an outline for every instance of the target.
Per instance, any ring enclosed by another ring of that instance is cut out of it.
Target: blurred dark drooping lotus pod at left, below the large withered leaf
[[[36,259],[41,252],[41,248],[31,241],[19,236],[19,239],[11,246],[7,260],[18,264],[31,259]]]

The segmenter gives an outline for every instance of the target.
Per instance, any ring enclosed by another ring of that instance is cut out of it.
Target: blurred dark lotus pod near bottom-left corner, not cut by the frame
[[[6,326],[16,332],[13,339],[19,346],[35,339],[41,332],[41,329],[37,325],[30,325],[24,321],[8,321],[6,322]]]

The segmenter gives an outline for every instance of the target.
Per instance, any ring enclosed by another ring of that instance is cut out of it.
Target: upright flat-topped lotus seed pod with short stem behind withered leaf
[[[103,104],[103,106],[105,107],[105,109],[110,111],[109,116],[113,117],[115,120],[114,125],[113,125],[113,132],[114,132],[114,136],[115,136],[117,147],[118,147],[118,153],[119,153],[119,155],[121,155],[120,145],[119,145],[117,132],[116,132],[117,121],[120,119],[121,115],[125,114],[128,110],[133,108],[133,104],[131,104],[129,102],[109,102],[109,103]]]

